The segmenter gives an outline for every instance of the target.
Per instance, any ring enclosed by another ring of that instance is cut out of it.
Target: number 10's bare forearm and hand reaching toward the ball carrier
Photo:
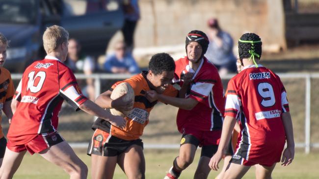
[[[79,108],[88,114],[95,115],[109,121],[116,127],[124,128],[126,126],[126,120],[123,117],[110,114],[90,100],[86,100],[79,106]]]

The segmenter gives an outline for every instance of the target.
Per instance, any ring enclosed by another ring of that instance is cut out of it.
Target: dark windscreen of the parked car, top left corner
[[[36,13],[35,0],[0,0],[0,22],[35,23]]]

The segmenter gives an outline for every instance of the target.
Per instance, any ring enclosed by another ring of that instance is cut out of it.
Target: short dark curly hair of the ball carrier
[[[174,59],[167,53],[157,53],[152,56],[148,70],[151,70],[155,75],[162,74],[163,71],[175,71]]]

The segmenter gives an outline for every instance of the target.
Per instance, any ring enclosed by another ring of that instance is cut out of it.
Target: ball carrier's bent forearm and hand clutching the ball
[[[123,101],[123,97],[126,95],[126,93],[114,100],[110,97],[111,93],[112,91],[107,90],[106,92],[100,94],[96,98],[95,103],[101,108],[115,108],[120,112],[132,110],[134,101]]]

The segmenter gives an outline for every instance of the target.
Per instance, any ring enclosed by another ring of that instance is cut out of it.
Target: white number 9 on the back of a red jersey
[[[269,83],[260,83],[258,85],[258,92],[262,96],[262,105],[264,107],[273,106],[276,102],[272,86]]]

